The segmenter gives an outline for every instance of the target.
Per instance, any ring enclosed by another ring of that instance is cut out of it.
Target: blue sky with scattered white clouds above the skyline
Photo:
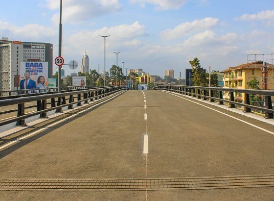
[[[247,62],[249,53],[274,52],[273,0],[63,0],[63,56],[107,70],[120,51],[126,68],[178,76],[198,57],[204,68],[224,70]],[[0,37],[53,43],[58,52],[58,0],[5,1]],[[11,12],[13,11],[13,12]],[[77,70],[79,70],[78,68]],[[76,70],[76,71],[77,71]],[[66,70],[66,74],[71,71]]]

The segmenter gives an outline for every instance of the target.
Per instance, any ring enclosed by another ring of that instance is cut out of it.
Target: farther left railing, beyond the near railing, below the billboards
[[[93,88],[100,88],[99,86],[68,86],[68,87],[61,87],[62,92],[68,91],[68,90],[80,90],[80,89],[93,89]],[[31,96],[33,94],[52,94],[52,93],[58,93],[58,88],[46,88],[46,89],[17,89],[17,90],[4,90],[0,91],[0,100],[3,100],[5,97],[25,97],[25,96]]]

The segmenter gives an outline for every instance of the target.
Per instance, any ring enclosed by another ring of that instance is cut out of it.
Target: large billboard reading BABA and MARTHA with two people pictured
[[[20,89],[46,89],[48,88],[47,76],[48,62],[20,63]]]

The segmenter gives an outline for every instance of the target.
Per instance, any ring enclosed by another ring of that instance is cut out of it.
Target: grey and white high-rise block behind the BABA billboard
[[[52,44],[0,40],[0,90],[13,90],[15,75],[20,75],[20,62],[48,62],[52,77]],[[17,89],[17,88],[16,88]]]

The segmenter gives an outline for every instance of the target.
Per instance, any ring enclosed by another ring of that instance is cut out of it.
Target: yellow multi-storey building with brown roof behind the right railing
[[[256,77],[258,87],[264,89],[263,81],[266,80],[266,89],[274,90],[274,65],[266,63],[264,68],[263,61],[256,61],[246,64],[241,64],[235,67],[229,67],[222,71],[224,73],[224,88],[249,89],[248,82]],[[264,76],[264,71],[267,71]],[[239,102],[244,101],[244,94],[235,93],[235,100]],[[229,99],[229,93],[223,95],[224,99]]]

